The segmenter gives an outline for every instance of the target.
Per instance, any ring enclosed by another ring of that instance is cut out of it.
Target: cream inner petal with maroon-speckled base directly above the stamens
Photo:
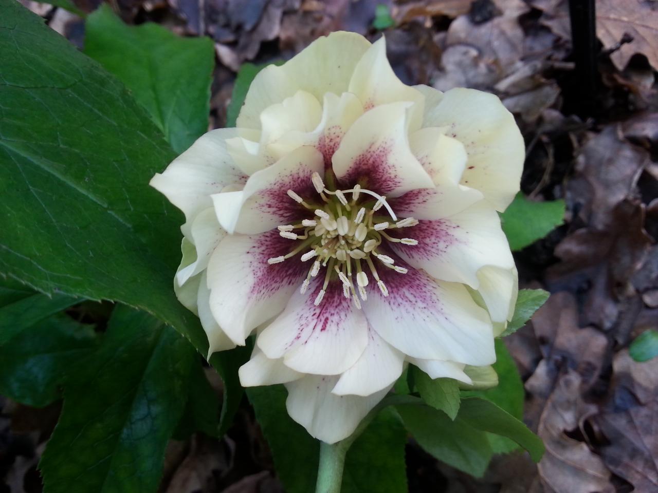
[[[332,159],[341,183],[360,183],[363,188],[390,197],[434,187],[409,149],[409,106],[410,103],[376,106],[354,122]]]

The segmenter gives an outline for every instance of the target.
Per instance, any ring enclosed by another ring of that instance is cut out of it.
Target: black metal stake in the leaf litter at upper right
[[[590,116],[595,109],[598,81],[595,0],[569,0],[569,17],[579,95],[577,104],[581,116]]]

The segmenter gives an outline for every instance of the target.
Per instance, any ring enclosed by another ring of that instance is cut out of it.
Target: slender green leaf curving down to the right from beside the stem
[[[539,462],[544,455],[542,439],[532,433],[519,419],[490,400],[479,397],[463,398],[459,418],[478,430],[511,438],[526,449],[535,462]]]

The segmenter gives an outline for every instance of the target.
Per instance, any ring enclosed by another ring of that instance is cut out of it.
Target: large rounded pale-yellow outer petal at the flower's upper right
[[[465,146],[468,162],[461,183],[484,193],[496,210],[505,210],[519,191],[525,145],[503,103],[482,91],[450,89],[426,108],[425,120],[429,126],[448,126],[447,135]]]

